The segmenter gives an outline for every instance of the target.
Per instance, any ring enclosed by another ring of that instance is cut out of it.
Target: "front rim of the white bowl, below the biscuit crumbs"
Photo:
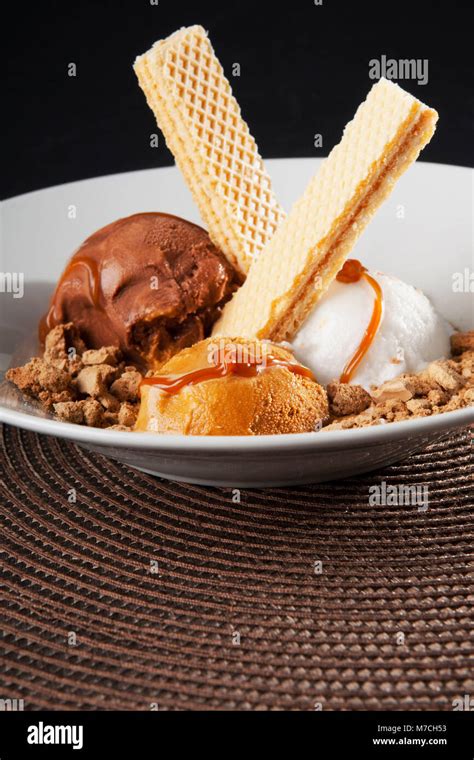
[[[377,446],[419,436],[431,436],[456,428],[474,426],[474,407],[456,409],[431,417],[388,422],[353,430],[330,430],[261,436],[186,436],[161,433],[128,433],[73,425],[45,419],[0,406],[0,423],[78,444],[120,449],[154,449],[168,452],[269,452],[288,450],[342,450]],[[474,431],[473,431],[474,435]]]

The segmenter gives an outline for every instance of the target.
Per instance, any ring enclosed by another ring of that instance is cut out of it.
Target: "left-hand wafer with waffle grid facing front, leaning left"
[[[213,242],[247,273],[285,214],[206,32],[181,29],[134,68]]]

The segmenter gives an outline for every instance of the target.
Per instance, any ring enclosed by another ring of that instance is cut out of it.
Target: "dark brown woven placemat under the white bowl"
[[[0,696],[27,710],[450,710],[474,693],[468,431],[383,472],[240,504],[2,435]],[[382,481],[426,484],[428,511],[369,506]]]

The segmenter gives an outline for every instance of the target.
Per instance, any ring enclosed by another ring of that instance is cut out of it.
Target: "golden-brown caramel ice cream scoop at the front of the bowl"
[[[267,342],[209,339],[170,359],[141,388],[136,430],[183,435],[315,431],[325,390],[294,356]]]

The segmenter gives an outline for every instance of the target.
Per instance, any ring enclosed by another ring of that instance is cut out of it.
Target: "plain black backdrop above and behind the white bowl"
[[[264,156],[326,155],[373,84],[369,60],[385,54],[429,59],[427,85],[400,81],[441,115],[423,160],[471,165],[469,8],[427,0],[12,4],[3,23],[2,197],[170,164],[163,141],[150,147],[157,129],[131,64],[193,23],[210,31]],[[235,62],[240,78],[230,76]]]

